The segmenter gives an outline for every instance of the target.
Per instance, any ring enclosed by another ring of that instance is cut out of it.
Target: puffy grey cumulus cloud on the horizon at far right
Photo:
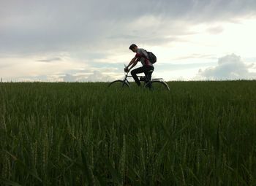
[[[253,64],[247,64],[235,54],[219,58],[217,66],[200,69],[195,80],[244,80],[255,79],[256,73],[250,72]]]

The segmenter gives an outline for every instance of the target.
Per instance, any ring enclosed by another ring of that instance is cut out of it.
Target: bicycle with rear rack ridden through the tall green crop
[[[132,77],[131,75],[128,75],[129,71],[124,72],[124,80],[115,80],[113,82],[110,82],[108,85],[108,88],[113,89],[120,89],[120,88],[131,88],[130,82],[127,80],[127,77]],[[151,81],[148,81],[145,76],[138,76],[140,82],[144,82],[143,88],[148,88],[150,90],[170,90],[167,83],[164,81],[163,78],[151,78]],[[151,86],[150,86],[151,83]]]

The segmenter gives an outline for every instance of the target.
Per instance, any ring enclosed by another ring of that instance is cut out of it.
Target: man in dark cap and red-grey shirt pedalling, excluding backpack
[[[146,50],[144,50],[143,48],[138,48],[136,44],[132,44],[131,46],[129,46],[129,50],[132,50],[132,52],[136,53],[136,55],[134,58],[132,58],[131,62],[129,62],[129,65],[124,68],[124,71],[130,71],[138,63],[138,61],[140,61],[143,66],[137,69],[133,69],[131,71],[132,77],[137,85],[140,86],[140,80],[138,79],[137,74],[144,72],[146,82],[149,82],[151,80],[151,75],[154,71],[154,66],[148,59],[148,53],[146,53]],[[129,66],[131,66],[130,69]],[[151,88],[151,83],[149,83],[149,88]]]

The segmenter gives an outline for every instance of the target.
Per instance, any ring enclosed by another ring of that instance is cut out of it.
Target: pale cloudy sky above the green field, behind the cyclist
[[[0,78],[122,79],[135,43],[153,78],[255,80],[255,33],[255,0],[0,0]]]

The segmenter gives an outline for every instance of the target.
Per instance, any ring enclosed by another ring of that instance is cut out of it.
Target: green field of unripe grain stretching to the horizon
[[[256,185],[256,81],[0,83],[0,185]]]

